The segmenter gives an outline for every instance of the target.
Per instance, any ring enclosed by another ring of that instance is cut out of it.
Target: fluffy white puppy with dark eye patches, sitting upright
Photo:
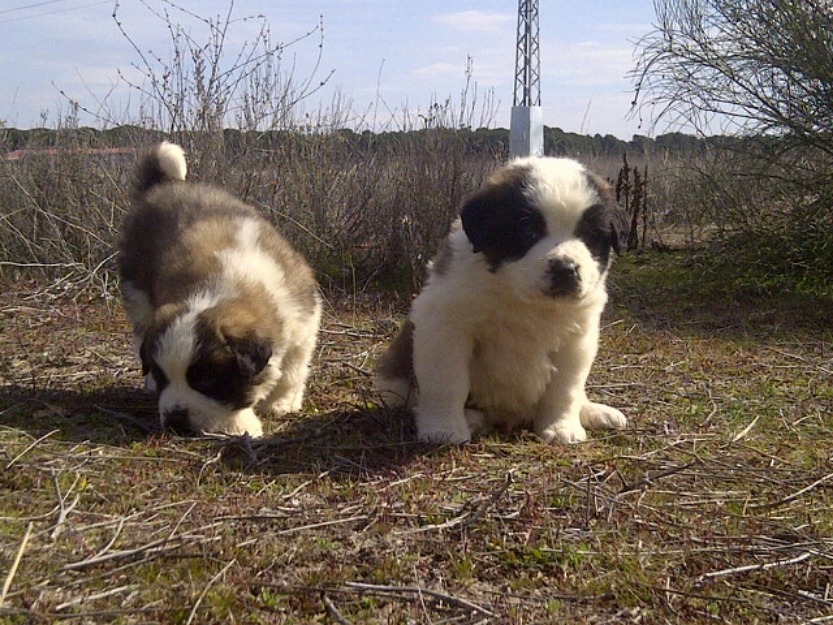
[[[626,228],[610,186],[574,160],[498,170],[464,204],[380,358],[383,399],[413,407],[426,442],[531,424],[548,442],[577,443],[585,427],[623,427],[585,382]]]

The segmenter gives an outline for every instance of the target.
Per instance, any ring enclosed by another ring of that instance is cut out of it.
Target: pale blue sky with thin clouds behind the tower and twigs
[[[138,55],[112,18],[113,0],[0,0],[0,120],[7,126],[54,126],[69,109],[61,91],[111,118],[134,116],[135,96],[119,72],[138,79]],[[227,0],[181,0],[204,17],[225,15]],[[121,0],[118,15],[144,52],[167,57],[170,35],[150,9],[167,10],[199,38],[198,21],[162,0]],[[491,102],[491,126],[508,127],[512,106],[516,0],[236,0],[235,18],[263,15],[272,39],[290,42],[323,17],[317,78],[329,81],[303,104],[308,111],[354,111],[350,123],[401,125],[433,101],[459,109],[471,59],[475,125]],[[540,0],[541,99],[544,122],[572,132],[629,139],[650,128],[628,116],[635,42],[654,20],[650,0]],[[259,30],[236,20],[227,49],[236,52]],[[308,76],[318,38],[290,46],[283,59],[295,79]],[[82,115],[81,122],[98,125]]]

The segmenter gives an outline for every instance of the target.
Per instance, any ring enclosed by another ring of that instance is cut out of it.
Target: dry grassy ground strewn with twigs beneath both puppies
[[[414,443],[330,301],[305,414],[158,430],[118,304],[0,295],[4,623],[833,623],[833,305],[631,257],[576,447]]]

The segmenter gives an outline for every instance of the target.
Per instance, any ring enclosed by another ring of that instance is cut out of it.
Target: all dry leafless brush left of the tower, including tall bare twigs
[[[134,124],[118,123],[101,106],[86,112],[105,130],[80,129],[81,107],[69,101],[48,151],[0,161],[2,275],[73,271],[109,284],[135,152],[167,138],[185,147],[189,177],[223,185],[261,209],[310,257],[323,282],[363,288],[419,281],[463,196],[495,163],[492,154],[466,150],[475,110],[481,121],[493,113],[492,100],[480,100],[471,82],[471,65],[459,102],[449,98],[425,114],[403,109],[397,132],[358,133],[347,129],[347,103],[302,114],[301,104],[329,76],[317,77],[317,62],[303,79],[281,66],[288,46],[311,38],[320,61],[320,26],[277,44],[261,18],[248,18],[260,20],[258,34],[231,50],[230,32],[241,23],[233,3],[212,19],[165,6],[153,17],[170,33],[169,58],[144,50],[120,21],[118,5],[114,11],[143,79],[123,76],[140,95]],[[177,16],[196,21],[204,39]],[[111,156],[114,145],[132,152]]]

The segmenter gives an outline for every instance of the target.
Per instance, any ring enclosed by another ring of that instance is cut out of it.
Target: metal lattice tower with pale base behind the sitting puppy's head
[[[541,108],[541,50],[538,44],[538,0],[518,0],[518,45],[515,50],[515,96],[509,127],[512,156],[544,154]]]

